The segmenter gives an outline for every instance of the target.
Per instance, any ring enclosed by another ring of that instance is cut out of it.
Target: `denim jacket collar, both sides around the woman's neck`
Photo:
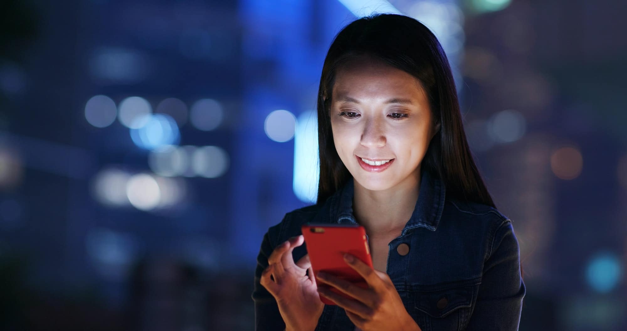
[[[353,215],[352,199],[354,194],[354,179],[339,189],[330,199],[330,223],[357,224]],[[405,224],[401,235],[409,229],[426,228],[436,231],[442,211],[444,209],[446,187],[438,177],[428,171],[421,171],[420,190],[416,207],[411,218]]]

